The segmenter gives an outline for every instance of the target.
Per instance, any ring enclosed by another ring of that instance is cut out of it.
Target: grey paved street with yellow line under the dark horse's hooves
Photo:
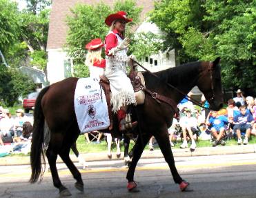
[[[89,162],[81,170],[85,192],[74,188],[74,179],[63,164],[58,164],[61,180],[72,197],[255,197],[256,155],[176,157],[181,176],[193,192],[179,192],[163,159],[141,159],[135,180],[141,192],[126,190],[126,171],[122,161]],[[79,166],[79,164],[77,164]],[[81,167],[80,167],[81,168]],[[59,197],[46,172],[41,184],[28,184],[29,166],[0,167],[0,197]]]

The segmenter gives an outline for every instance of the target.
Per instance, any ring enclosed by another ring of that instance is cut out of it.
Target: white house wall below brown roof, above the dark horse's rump
[[[68,70],[71,70],[72,63],[68,66],[67,62],[70,62],[70,57],[62,49],[48,50],[47,73],[50,84],[70,77]]]

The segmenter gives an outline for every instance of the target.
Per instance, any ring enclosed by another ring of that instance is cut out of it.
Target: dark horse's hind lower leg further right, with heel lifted
[[[69,157],[69,150],[65,150],[65,152],[61,152],[59,156],[64,161],[66,166],[68,166],[68,169],[72,173],[73,177],[77,180],[77,182],[75,183],[75,187],[81,192],[83,192],[83,180],[81,178],[81,173],[79,172],[79,170],[77,170],[77,167],[71,161]]]

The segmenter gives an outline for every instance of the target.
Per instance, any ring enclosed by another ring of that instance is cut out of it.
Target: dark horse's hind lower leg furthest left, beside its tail
[[[61,180],[59,179],[59,174],[56,168],[57,152],[54,152],[50,145],[46,151],[46,157],[50,165],[50,172],[52,174],[53,185],[59,189],[59,194],[61,196],[70,196],[71,193],[69,192],[68,188],[63,186],[61,184]]]

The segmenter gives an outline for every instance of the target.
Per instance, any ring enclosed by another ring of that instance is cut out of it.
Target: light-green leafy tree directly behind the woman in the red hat
[[[129,52],[134,53],[138,58],[158,52],[159,41],[155,34],[139,34],[137,37],[134,35],[135,26],[139,23],[139,14],[142,10],[136,6],[135,1],[116,1],[113,8],[102,2],[95,6],[78,4],[71,10],[72,14],[67,18],[69,30],[66,50],[75,64],[75,76],[88,76],[88,70],[83,69],[86,55],[84,46],[91,39],[101,38],[104,41],[109,31],[104,21],[108,14],[119,10],[124,10],[128,13],[128,17],[133,19],[126,25],[126,37],[133,40]]]

